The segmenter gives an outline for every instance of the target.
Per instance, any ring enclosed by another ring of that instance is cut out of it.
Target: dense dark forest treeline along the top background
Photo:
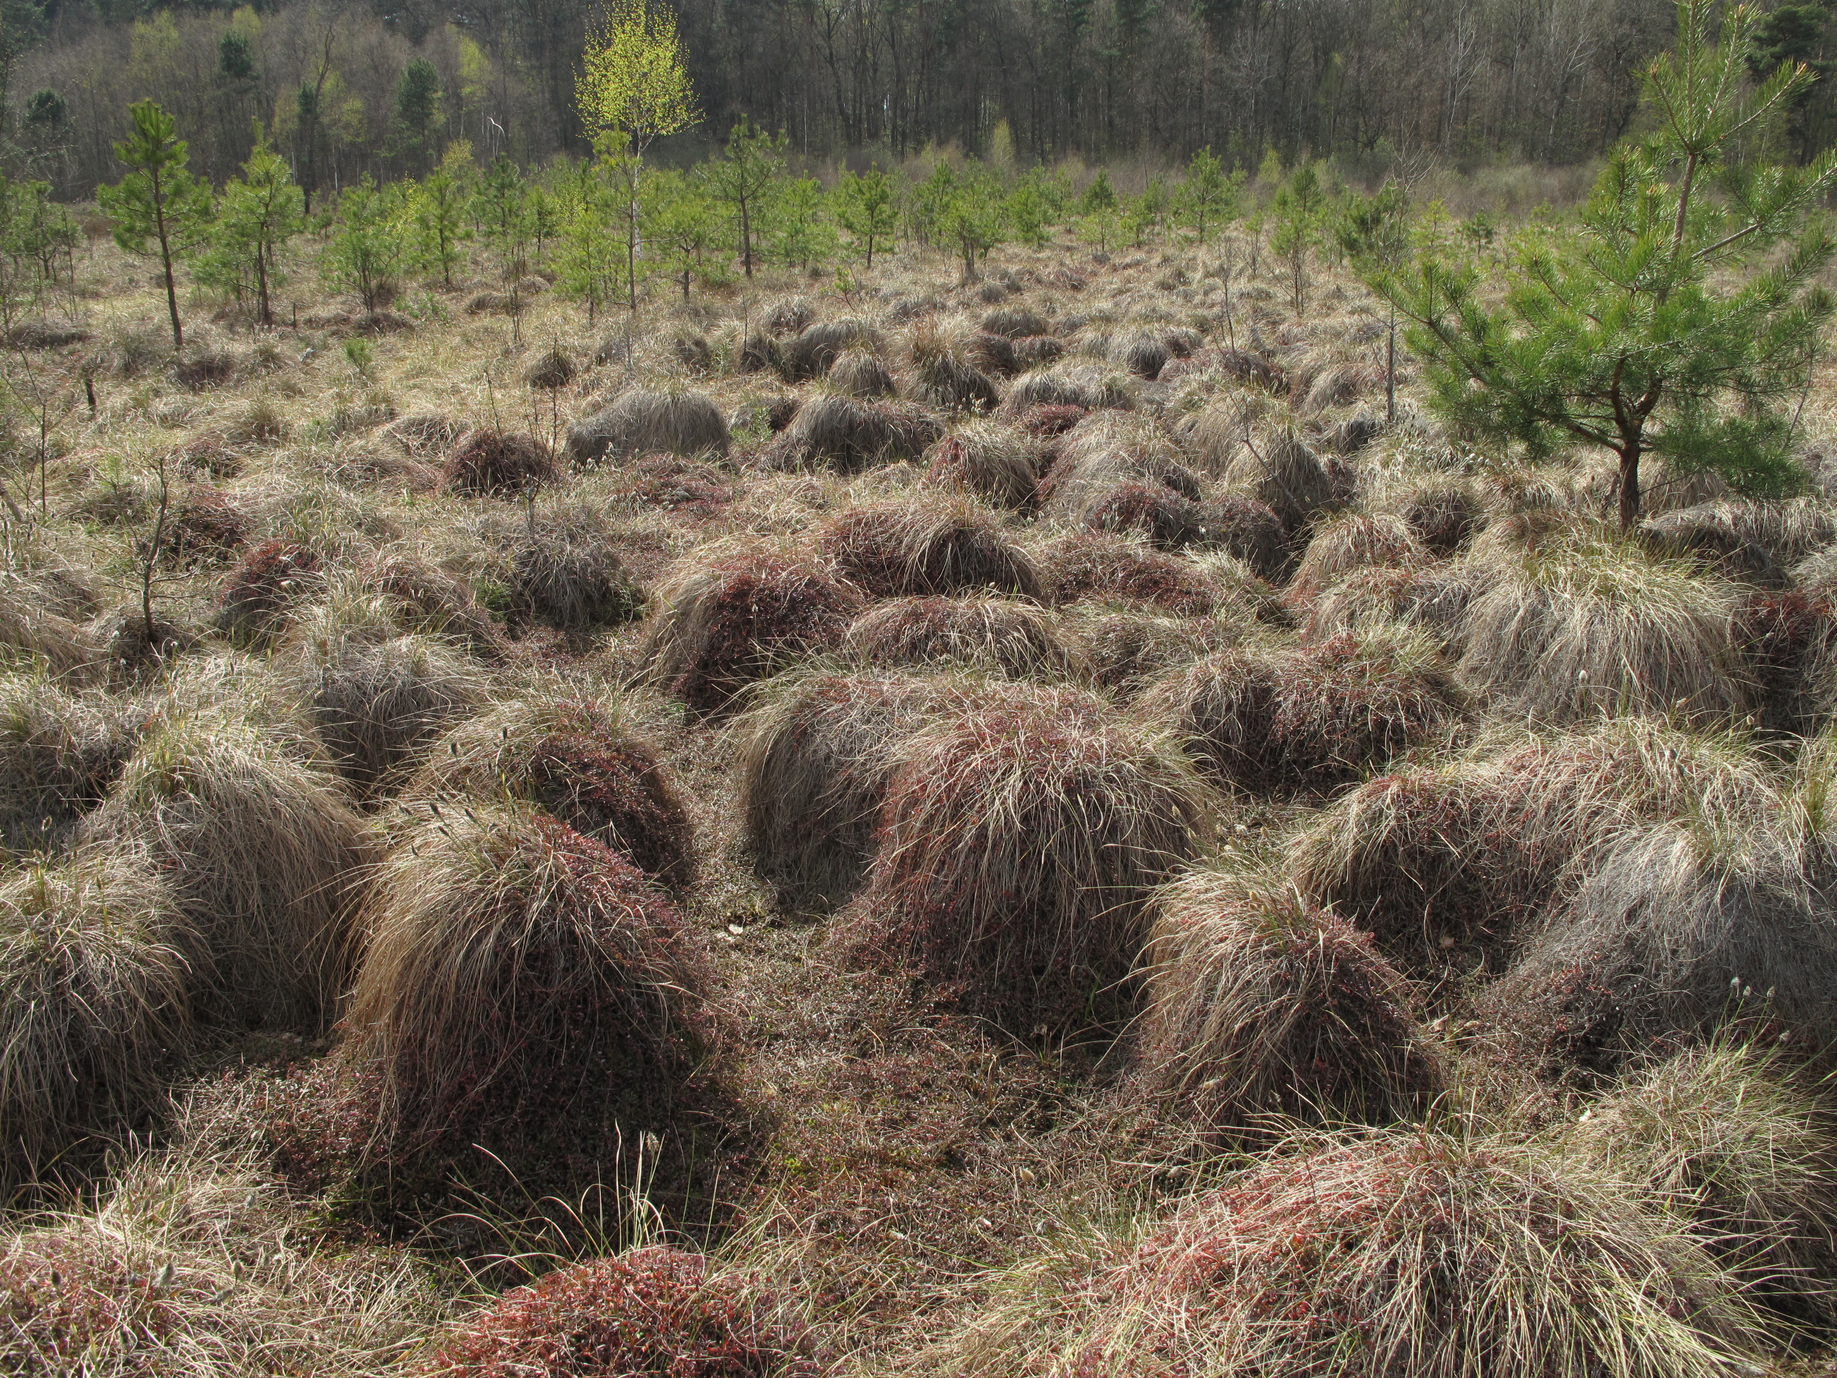
[[[1021,164],[1069,152],[1255,169],[1275,147],[1578,162],[1628,132],[1639,73],[1672,42],[1666,0],[682,0],[682,35],[720,143],[748,114],[794,154],[904,158],[930,143]],[[143,13],[123,0],[11,0],[6,105],[15,173],[61,197],[112,180],[127,107],[158,99],[220,182],[263,119],[303,187],[424,173],[448,141],[533,164],[584,152],[573,0],[294,0]],[[1822,66],[1822,4],[1784,6],[1769,57]],[[1802,103],[1802,149],[1831,97]],[[1005,125],[1005,129],[1003,129]],[[678,149],[683,156],[698,149]]]

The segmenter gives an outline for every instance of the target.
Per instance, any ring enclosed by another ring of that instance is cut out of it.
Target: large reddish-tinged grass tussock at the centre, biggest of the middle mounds
[[[1106,1022],[1152,887],[1209,819],[1168,735],[1076,689],[990,685],[895,750],[845,943],[1010,1029]]]

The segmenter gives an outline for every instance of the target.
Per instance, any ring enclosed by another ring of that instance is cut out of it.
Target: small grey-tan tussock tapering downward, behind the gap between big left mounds
[[[290,649],[299,698],[338,774],[362,797],[393,785],[485,696],[478,672],[426,636],[325,619]]]

